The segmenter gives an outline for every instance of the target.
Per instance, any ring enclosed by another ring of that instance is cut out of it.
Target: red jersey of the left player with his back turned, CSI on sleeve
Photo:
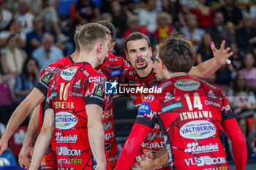
[[[105,109],[106,77],[89,63],[75,63],[63,69],[48,88],[46,108],[56,116],[56,152],[59,169],[94,169],[86,104]]]

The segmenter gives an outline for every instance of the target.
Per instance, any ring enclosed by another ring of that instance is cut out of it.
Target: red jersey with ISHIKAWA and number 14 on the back
[[[173,77],[143,101],[136,123],[164,134],[173,169],[229,169],[222,146],[222,120],[234,118],[225,95],[193,77]]]

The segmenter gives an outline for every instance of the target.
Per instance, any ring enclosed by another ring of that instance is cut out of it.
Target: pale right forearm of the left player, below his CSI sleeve
[[[105,156],[105,139],[102,121],[93,121],[88,124],[88,136],[92,155],[97,164],[107,164]]]

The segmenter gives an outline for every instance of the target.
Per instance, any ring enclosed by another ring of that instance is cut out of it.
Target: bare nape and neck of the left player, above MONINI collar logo
[[[89,63],[94,69],[98,66],[97,54],[94,52],[80,51],[76,63],[86,62]]]

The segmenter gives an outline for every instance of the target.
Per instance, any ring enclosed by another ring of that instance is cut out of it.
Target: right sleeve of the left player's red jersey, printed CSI
[[[97,104],[105,109],[105,82],[103,74],[94,74],[89,77],[89,84],[85,86],[86,104]]]

